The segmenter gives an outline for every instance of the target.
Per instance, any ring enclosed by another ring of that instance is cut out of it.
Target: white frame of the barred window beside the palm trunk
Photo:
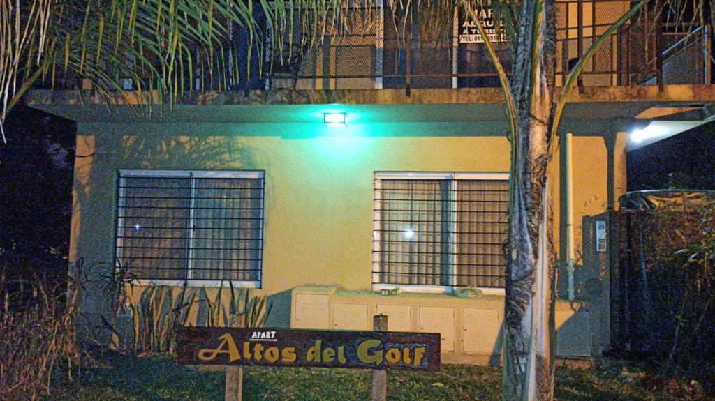
[[[449,270],[448,275],[450,276],[450,285],[403,285],[403,284],[389,284],[389,283],[378,283],[380,280],[380,220],[382,220],[382,196],[378,197],[378,192],[382,190],[380,180],[448,180],[453,182],[455,185],[459,180],[482,180],[482,181],[508,181],[509,173],[503,172],[415,172],[415,171],[375,171],[373,174],[373,291],[380,290],[393,290],[394,288],[400,288],[400,291],[410,292],[410,293],[447,293],[451,294],[455,292],[455,289],[463,288],[463,286],[456,285],[457,276],[454,275],[455,264],[454,264],[454,253],[453,253],[453,243],[455,243],[457,225],[457,208],[455,191],[456,187],[452,191],[449,191],[449,202],[450,202],[450,245],[449,245]],[[498,287],[477,287],[486,295],[504,295],[506,293],[505,288]]]

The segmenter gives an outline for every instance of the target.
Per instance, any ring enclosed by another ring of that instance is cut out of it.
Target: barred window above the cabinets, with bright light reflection
[[[373,288],[503,288],[506,173],[375,173]]]

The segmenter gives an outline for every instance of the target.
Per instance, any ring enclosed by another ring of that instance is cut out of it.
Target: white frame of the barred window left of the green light
[[[240,170],[240,171],[220,171],[220,170],[142,170],[128,169],[117,171],[117,205],[114,213],[114,266],[118,268],[119,249],[122,248],[124,240],[124,217],[119,215],[119,210],[125,208],[125,188],[124,178],[128,177],[182,177],[191,180],[191,198],[189,199],[189,224],[188,235],[188,256],[184,268],[187,278],[185,279],[165,279],[165,278],[138,278],[133,280],[134,285],[167,285],[172,287],[220,287],[230,286],[234,288],[262,288],[263,281],[263,230],[265,225],[265,171],[262,170]],[[192,265],[192,241],[194,235],[194,200],[196,197],[195,180],[197,178],[252,178],[262,180],[261,186],[261,208],[260,208],[260,260],[258,260],[258,280],[203,280],[191,278]]]

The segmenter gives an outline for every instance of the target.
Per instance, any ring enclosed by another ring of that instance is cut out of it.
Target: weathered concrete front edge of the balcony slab
[[[562,88],[556,88],[560,96]],[[462,104],[503,103],[501,88],[414,88],[410,95],[404,89],[340,90],[271,90],[271,91],[192,91],[184,92],[177,104],[192,106],[239,106],[285,104]],[[98,91],[30,91],[25,96],[28,106],[40,105],[144,105],[160,104],[157,91],[114,93],[111,98]],[[706,102],[715,99],[715,85],[658,86],[590,86],[581,93],[571,91],[571,103],[658,101]]]

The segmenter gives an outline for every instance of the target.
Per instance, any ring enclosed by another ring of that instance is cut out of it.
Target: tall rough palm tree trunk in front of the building
[[[553,400],[554,273],[546,170],[556,69],[554,21],[553,0],[521,4],[510,83],[518,121],[512,140],[505,401]]]

